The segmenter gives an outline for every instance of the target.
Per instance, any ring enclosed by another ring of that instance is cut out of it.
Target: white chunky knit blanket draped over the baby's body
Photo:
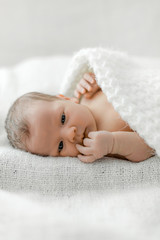
[[[160,66],[154,59],[111,49],[82,49],[71,59],[61,93],[73,97],[85,72],[94,72],[121,118],[160,156]]]

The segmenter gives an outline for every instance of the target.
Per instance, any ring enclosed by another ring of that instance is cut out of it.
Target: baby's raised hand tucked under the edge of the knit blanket
[[[74,96],[80,98],[84,94],[86,98],[91,98],[99,89],[100,87],[97,85],[94,73],[85,73],[77,84]]]

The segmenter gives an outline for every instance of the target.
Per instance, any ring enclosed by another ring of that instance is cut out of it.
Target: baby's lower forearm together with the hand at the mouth
[[[94,162],[103,156],[113,156],[140,162],[153,156],[150,148],[136,132],[89,132],[83,145],[76,144],[82,162]]]

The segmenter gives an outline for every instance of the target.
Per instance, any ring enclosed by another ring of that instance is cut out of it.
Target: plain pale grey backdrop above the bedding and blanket
[[[159,0],[0,0],[0,65],[115,47],[160,56]]]

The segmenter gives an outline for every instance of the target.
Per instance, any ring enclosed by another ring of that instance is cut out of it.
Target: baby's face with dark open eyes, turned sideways
[[[49,156],[77,156],[76,144],[90,131],[96,131],[95,119],[84,105],[64,101],[37,101],[29,110],[29,152]]]

